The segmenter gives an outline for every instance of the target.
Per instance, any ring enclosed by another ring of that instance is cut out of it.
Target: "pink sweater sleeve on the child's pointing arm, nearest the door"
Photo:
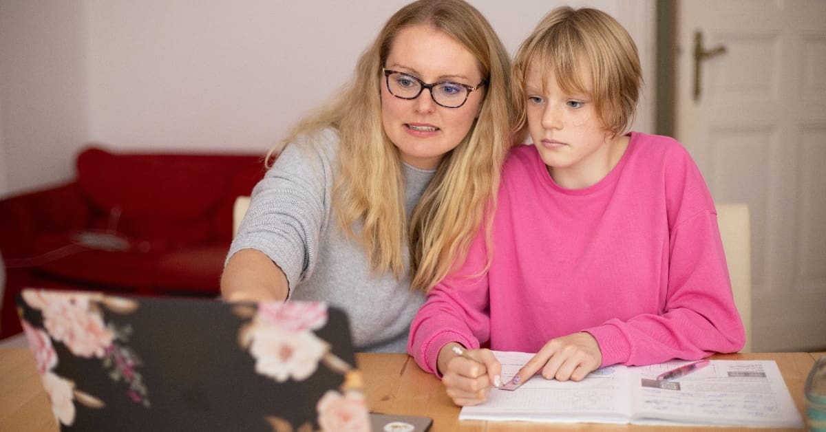
[[[667,169],[670,234],[662,311],[586,329],[600,344],[603,366],[691,360],[737,352],[745,344],[710,193],[687,154]]]

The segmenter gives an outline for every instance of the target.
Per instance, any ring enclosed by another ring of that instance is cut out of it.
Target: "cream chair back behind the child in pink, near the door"
[[[752,352],[752,242],[748,205],[743,203],[719,203],[717,225],[723,240],[725,259],[729,264],[729,277],[734,294],[734,304],[746,328],[746,344],[743,353]]]

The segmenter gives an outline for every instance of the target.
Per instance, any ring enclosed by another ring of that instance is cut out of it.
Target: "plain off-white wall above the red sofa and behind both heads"
[[[471,0],[512,53],[565,2]],[[260,153],[352,74],[404,0],[2,0],[0,195],[70,178],[88,141]],[[653,88],[654,0],[594,6],[637,40]],[[653,129],[653,94],[636,129]],[[5,168],[3,168],[5,163]]]

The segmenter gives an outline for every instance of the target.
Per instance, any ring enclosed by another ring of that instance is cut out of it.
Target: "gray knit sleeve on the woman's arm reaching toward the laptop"
[[[232,241],[227,259],[241,249],[266,254],[293,287],[312,273],[321,231],[330,213],[333,132],[321,142],[290,144],[255,186],[249,209]]]

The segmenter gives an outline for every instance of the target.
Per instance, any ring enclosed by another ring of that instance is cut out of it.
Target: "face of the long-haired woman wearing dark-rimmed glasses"
[[[477,59],[433,26],[409,26],[398,32],[384,68],[419,78],[425,83],[452,81],[475,87],[484,78]],[[399,150],[401,160],[419,169],[434,169],[444,154],[468,135],[482,107],[484,86],[468,95],[458,108],[439,106],[423,88],[415,99],[401,99],[387,90],[382,74],[382,126]],[[404,80],[405,85],[414,81]],[[434,89],[434,91],[437,91]]]

